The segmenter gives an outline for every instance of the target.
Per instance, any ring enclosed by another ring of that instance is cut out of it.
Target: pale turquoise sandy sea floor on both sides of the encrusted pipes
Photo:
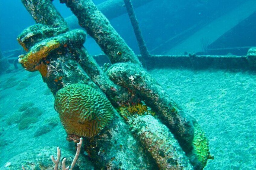
[[[256,168],[256,73],[224,70],[150,70],[170,96],[202,126],[210,141],[214,160],[205,169]],[[6,81],[13,82],[7,88]],[[58,116],[54,97],[38,73],[20,70],[1,76],[1,160],[0,167],[24,151],[39,146],[69,147],[59,123],[50,132],[34,137],[49,116]],[[19,130],[7,119],[24,102],[34,102],[43,111],[36,124]]]

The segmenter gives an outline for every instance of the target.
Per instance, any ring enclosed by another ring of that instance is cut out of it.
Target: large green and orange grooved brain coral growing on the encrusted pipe
[[[89,138],[108,125],[114,115],[107,97],[84,84],[72,84],[60,89],[54,105],[67,134]]]

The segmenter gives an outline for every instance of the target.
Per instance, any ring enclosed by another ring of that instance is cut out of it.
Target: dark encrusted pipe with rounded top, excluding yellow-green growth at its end
[[[116,63],[107,73],[117,84],[135,91],[165,121],[184,151],[191,150],[194,126],[190,117],[177,107],[146,70],[132,63]]]

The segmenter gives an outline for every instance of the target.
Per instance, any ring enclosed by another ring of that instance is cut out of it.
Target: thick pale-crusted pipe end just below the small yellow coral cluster
[[[193,169],[169,129],[151,115],[133,115],[128,123],[160,169]]]

